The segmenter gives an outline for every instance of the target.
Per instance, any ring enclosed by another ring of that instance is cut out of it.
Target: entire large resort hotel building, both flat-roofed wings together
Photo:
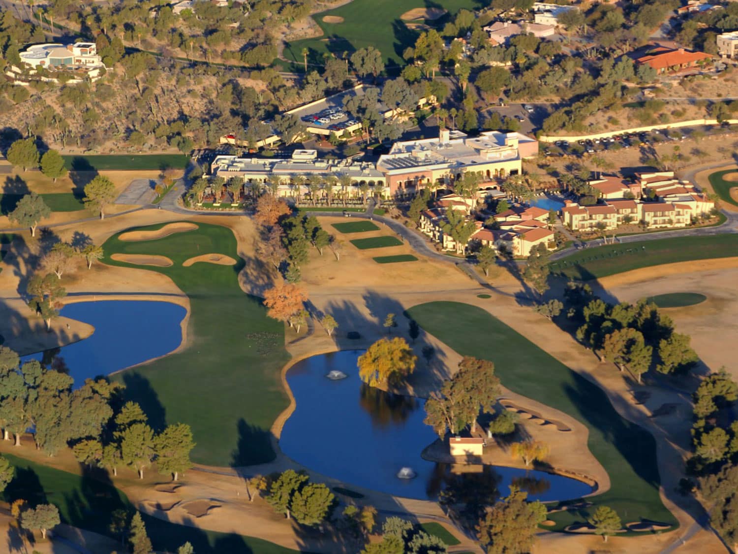
[[[520,133],[486,131],[467,137],[461,131],[441,130],[433,139],[394,143],[389,154],[376,163],[354,160],[321,160],[314,150],[297,150],[291,159],[218,156],[211,173],[228,180],[241,177],[248,182],[277,182],[280,196],[302,196],[308,183],[323,183],[331,177],[351,177],[351,196],[359,196],[359,185],[369,185],[382,198],[415,194],[419,189],[451,188],[465,171],[483,181],[519,174],[524,157],[538,153],[538,141]],[[297,191],[294,177],[305,179]]]

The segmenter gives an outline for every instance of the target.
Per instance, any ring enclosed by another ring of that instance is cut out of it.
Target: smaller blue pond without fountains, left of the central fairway
[[[81,386],[87,377],[108,375],[176,349],[182,343],[180,324],[187,310],[171,302],[103,300],[68,304],[61,315],[94,326],[94,332],[83,341],[24,360],[66,367],[75,386]]]

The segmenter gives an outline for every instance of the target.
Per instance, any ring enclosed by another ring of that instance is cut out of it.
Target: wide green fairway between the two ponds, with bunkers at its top
[[[197,443],[193,461],[207,465],[251,465],[274,459],[269,428],[289,405],[280,369],[289,360],[283,324],[266,317],[261,299],[238,286],[244,267],[235,236],[219,225],[153,241],[125,242],[112,236],[103,248],[107,264],[141,266],[110,259],[113,253],[167,256],[171,267],[146,267],[163,273],[190,298],[188,344],[182,352],[114,375],[126,394],[141,403],[155,427],[188,423]],[[161,225],[135,228],[156,230]],[[235,266],[182,262],[220,253]]]

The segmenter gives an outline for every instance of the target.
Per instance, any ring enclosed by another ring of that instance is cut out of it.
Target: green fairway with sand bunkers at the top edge
[[[443,7],[455,14],[461,8],[479,8],[480,4],[483,2],[477,0],[437,0],[432,3],[421,0],[353,0],[335,10],[315,14],[313,19],[323,30],[323,35],[287,44],[284,55],[302,64],[302,51],[307,48],[308,64],[323,65],[326,52],[342,55],[342,52],[351,53],[371,46],[382,52],[387,66],[404,66],[402,52],[415,44],[420,33],[405,26],[400,19],[403,13],[416,7],[432,6]],[[341,17],[343,22],[325,23],[325,16]],[[308,70],[311,70],[310,66]]]

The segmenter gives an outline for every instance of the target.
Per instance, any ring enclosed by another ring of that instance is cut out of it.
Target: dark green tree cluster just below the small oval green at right
[[[688,372],[697,363],[689,335],[677,333],[668,315],[652,302],[608,304],[596,298],[588,285],[569,283],[565,299],[568,317],[582,324],[576,338],[600,358],[629,369],[641,382],[650,368],[675,375]]]

